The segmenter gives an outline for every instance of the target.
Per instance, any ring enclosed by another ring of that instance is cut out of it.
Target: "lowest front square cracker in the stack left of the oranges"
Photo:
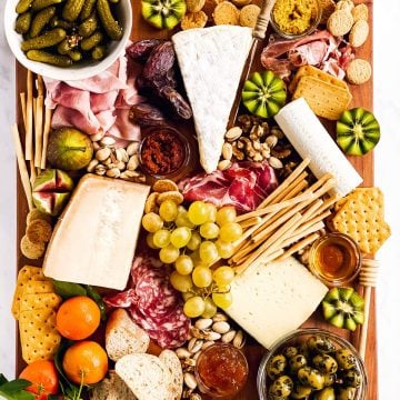
[[[56,311],[21,311],[19,320],[22,358],[27,363],[53,359],[61,336],[56,330]]]

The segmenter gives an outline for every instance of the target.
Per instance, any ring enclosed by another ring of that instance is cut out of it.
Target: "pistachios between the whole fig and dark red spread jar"
[[[103,137],[93,142],[94,157],[87,167],[88,172],[109,178],[120,178],[133,182],[146,182],[139,167],[139,142],[132,141],[127,148],[117,147],[116,140]]]

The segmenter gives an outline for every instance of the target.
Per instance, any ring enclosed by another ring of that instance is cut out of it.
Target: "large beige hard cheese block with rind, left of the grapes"
[[[54,229],[44,276],[124,289],[149,191],[144,184],[83,177]]]

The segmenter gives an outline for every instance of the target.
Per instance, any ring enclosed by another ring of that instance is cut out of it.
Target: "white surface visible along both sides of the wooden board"
[[[0,1],[0,372],[14,376],[14,321],[10,313],[16,276],[16,160],[10,126],[14,121],[14,59],[3,32]],[[374,112],[381,123],[381,142],[376,151],[376,184],[386,193],[386,216],[392,237],[379,252],[378,341],[380,399],[399,399],[400,377],[400,2],[374,1]],[[369,400],[376,400],[370,397]]]

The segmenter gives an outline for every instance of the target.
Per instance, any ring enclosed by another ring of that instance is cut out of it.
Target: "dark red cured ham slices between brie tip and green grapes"
[[[277,177],[268,162],[248,161],[234,163],[224,171],[197,174],[179,184],[186,201],[233,206],[239,213],[256,210],[277,186]]]

